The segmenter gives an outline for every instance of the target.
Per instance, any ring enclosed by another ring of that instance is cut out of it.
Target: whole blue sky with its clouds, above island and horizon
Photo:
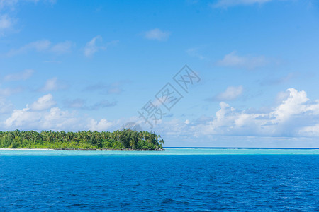
[[[0,0],[0,131],[319,147],[319,2]]]

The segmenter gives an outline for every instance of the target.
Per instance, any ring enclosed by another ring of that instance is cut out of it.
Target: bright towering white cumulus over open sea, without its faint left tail
[[[209,122],[194,126],[205,134],[247,136],[308,136],[317,133],[319,100],[310,101],[305,91],[294,88],[270,112],[238,111],[225,102]]]

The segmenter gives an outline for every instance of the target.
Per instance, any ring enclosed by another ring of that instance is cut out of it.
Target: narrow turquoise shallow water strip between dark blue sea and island
[[[318,155],[311,148],[166,148],[164,151],[0,150],[0,155]]]

